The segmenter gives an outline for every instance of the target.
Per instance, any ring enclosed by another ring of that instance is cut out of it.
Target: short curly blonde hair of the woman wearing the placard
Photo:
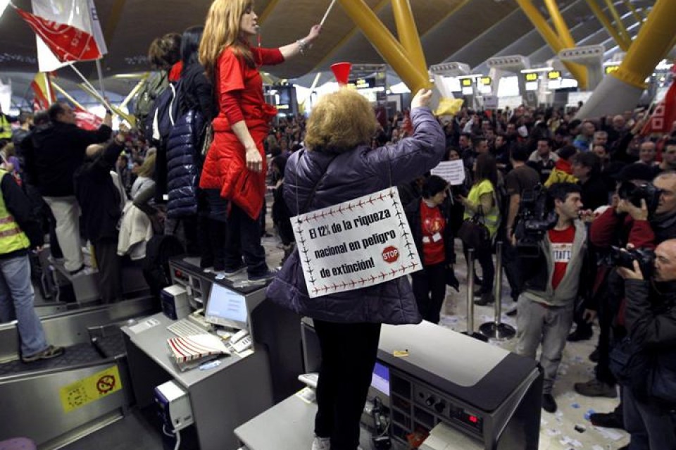
[[[368,100],[353,89],[342,88],[323,96],[313,108],[305,144],[310,150],[341,153],[370,144],[377,126]]]

